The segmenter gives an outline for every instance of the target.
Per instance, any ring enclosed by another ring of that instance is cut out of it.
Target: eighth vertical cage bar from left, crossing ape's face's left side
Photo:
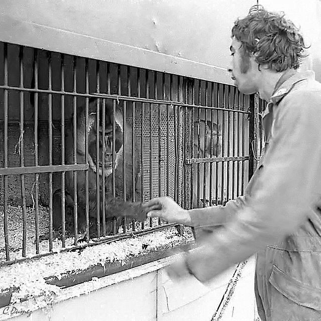
[[[100,83],[99,83],[99,61],[96,61],[96,92],[100,92]],[[97,98],[96,103],[96,203],[97,203],[97,212],[96,212],[96,218],[97,218],[97,237],[100,237],[100,177],[99,177],[99,164],[100,164],[100,98]],[[102,136],[102,140],[105,140],[105,137]],[[102,154],[102,159],[104,158],[104,154]],[[102,162],[101,159],[101,162]],[[101,163],[102,164],[102,163]],[[102,175],[104,175],[104,169],[101,167]]]

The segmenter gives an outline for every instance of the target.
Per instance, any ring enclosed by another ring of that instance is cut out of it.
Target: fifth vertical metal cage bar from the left
[[[61,91],[65,91],[65,66],[64,55],[61,54]],[[65,164],[65,96],[61,95],[61,164]],[[61,173],[61,221],[62,221],[62,247],[66,247],[66,215],[65,215],[65,176],[66,172]]]

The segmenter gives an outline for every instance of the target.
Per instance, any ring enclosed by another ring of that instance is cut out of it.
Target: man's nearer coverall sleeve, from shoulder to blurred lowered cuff
[[[232,220],[187,254],[189,269],[202,282],[293,233],[316,201],[321,92],[290,93],[277,108],[273,139],[251,197]]]

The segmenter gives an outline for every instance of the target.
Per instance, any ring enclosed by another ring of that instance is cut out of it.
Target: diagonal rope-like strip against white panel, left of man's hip
[[[219,321],[221,319],[221,317],[223,316],[224,311],[232,298],[232,295],[235,290],[235,286],[236,286],[237,282],[239,281],[239,279],[241,278],[243,269],[244,269],[245,265],[247,264],[247,262],[248,262],[248,260],[245,260],[243,262],[240,262],[237,265],[231,279],[229,280],[227,288],[222,296],[221,302],[220,302],[219,306],[217,307],[214,315],[212,316],[211,321]]]

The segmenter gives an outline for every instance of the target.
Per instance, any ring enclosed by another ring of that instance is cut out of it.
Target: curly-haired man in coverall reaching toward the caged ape
[[[262,321],[321,320],[321,84],[299,72],[303,39],[283,15],[251,8],[232,29],[235,86],[268,102],[265,147],[245,195],[226,206],[183,210],[147,203],[149,216],[195,227],[221,226],[169,268],[172,278],[212,279],[256,254]]]

